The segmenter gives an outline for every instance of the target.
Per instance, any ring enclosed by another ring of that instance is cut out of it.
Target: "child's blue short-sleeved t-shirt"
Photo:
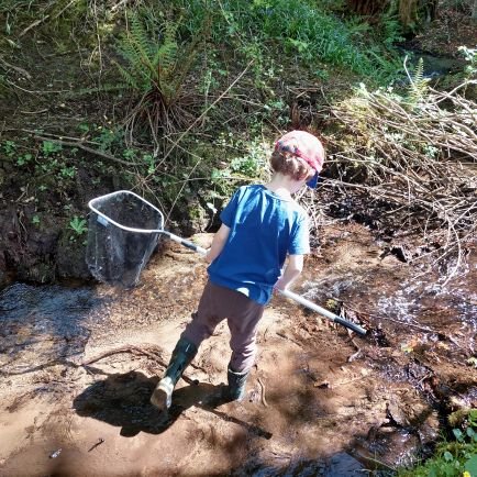
[[[295,200],[279,197],[264,186],[244,186],[220,218],[230,228],[230,234],[208,268],[210,281],[266,304],[287,253],[310,252],[307,213]]]

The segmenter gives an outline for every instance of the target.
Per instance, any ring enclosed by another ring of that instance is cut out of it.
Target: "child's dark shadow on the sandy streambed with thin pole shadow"
[[[130,371],[108,376],[95,382],[73,403],[78,415],[95,418],[111,425],[121,426],[121,435],[134,436],[142,432],[160,434],[166,431],[188,408],[197,406],[212,412],[220,419],[246,428],[256,435],[269,439],[270,433],[228,415],[214,408],[224,401],[220,395],[222,386],[190,381],[174,391],[173,406],[167,413],[159,412],[151,402],[151,396],[158,382],[157,377],[148,378],[142,373]]]

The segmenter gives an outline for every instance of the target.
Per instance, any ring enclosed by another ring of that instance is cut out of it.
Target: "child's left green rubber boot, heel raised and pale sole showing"
[[[151,403],[160,411],[167,411],[173,403],[173,391],[184,370],[197,354],[197,346],[190,341],[181,337],[173,351],[169,366],[164,373],[163,379],[154,389]]]

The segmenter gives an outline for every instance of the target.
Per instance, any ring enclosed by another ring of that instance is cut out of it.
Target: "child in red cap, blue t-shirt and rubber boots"
[[[254,364],[258,321],[274,287],[285,290],[300,275],[310,252],[308,217],[291,195],[306,184],[314,188],[324,160],[320,141],[303,131],[285,134],[270,158],[274,170],[265,186],[241,187],[222,211],[222,225],[206,255],[209,281],[199,308],[173,352],[151,402],[171,404],[174,387],[200,343],[228,319],[232,356],[224,401],[242,400]],[[288,263],[281,267],[288,254]]]

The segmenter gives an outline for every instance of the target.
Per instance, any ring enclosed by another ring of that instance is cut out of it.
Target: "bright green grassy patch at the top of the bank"
[[[344,15],[330,11],[339,9],[344,3],[341,0],[175,0],[175,3],[189,12],[185,24],[192,37],[208,12],[213,42],[232,46],[247,59],[254,59],[255,77],[257,69],[266,69],[268,48],[311,70],[326,63],[385,84],[401,69],[392,48],[402,36],[396,13],[388,15],[379,41],[373,43],[374,29],[367,23],[344,20]]]

